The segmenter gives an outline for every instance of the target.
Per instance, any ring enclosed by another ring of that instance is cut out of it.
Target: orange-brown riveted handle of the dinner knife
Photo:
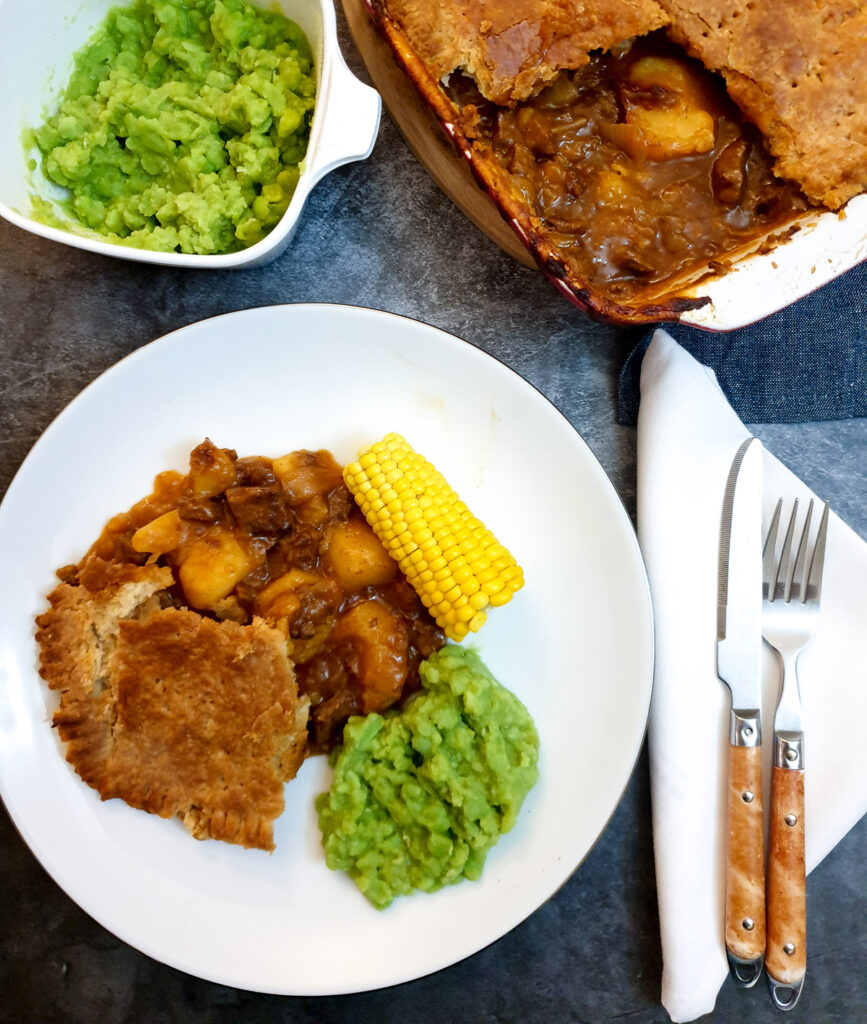
[[[729,745],[728,817],[726,947],[739,959],[756,961],[765,952],[761,746]]]

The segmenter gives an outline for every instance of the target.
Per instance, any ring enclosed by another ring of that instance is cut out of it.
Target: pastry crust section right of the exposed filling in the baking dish
[[[758,127],[779,177],[832,210],[867,188],[867,5],[659,2],[671,38]]]

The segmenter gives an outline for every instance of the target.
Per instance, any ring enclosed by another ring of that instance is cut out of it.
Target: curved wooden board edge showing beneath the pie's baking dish
[[[510,256],[535,268],[532,256],[479,187],[469,164],[446,138],[436,118],[397,65],[391,47],[371,20],[363,0],[342,2],[349,31],[371,79],[419,162],[479,230]]]

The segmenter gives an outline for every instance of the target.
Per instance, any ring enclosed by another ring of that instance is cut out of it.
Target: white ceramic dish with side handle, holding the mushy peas
[[[276,226],[248,249],[214,256],[115,245],[77,226],[56,205],[69,230],[32,216],[32,194],[56,203],[62,189],[47,181],[38,166],[33,172],[28,169],[35,154],[26,152],[26,129],[39,125],[51,110],[69,81],[74,53],[109,9],[122,4],[123,0],[83,0],[75,5],[59,0],[0,0],[0,215],[43,238],[142,263],[226,269],[270,262],[292,240],[316,182],[335,168],[370,156],[379,130],[379,93],[359,82],[344,63],[332,0],[279,0],[276,5],[304,30],[316,61],[316,105],[307,156],[295,195]]]

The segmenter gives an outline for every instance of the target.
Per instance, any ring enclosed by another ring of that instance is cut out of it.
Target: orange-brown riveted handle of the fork
[[[804,770],[775,764],[771,771],[768,979],[794,989],[796,998],[807,973]]]

